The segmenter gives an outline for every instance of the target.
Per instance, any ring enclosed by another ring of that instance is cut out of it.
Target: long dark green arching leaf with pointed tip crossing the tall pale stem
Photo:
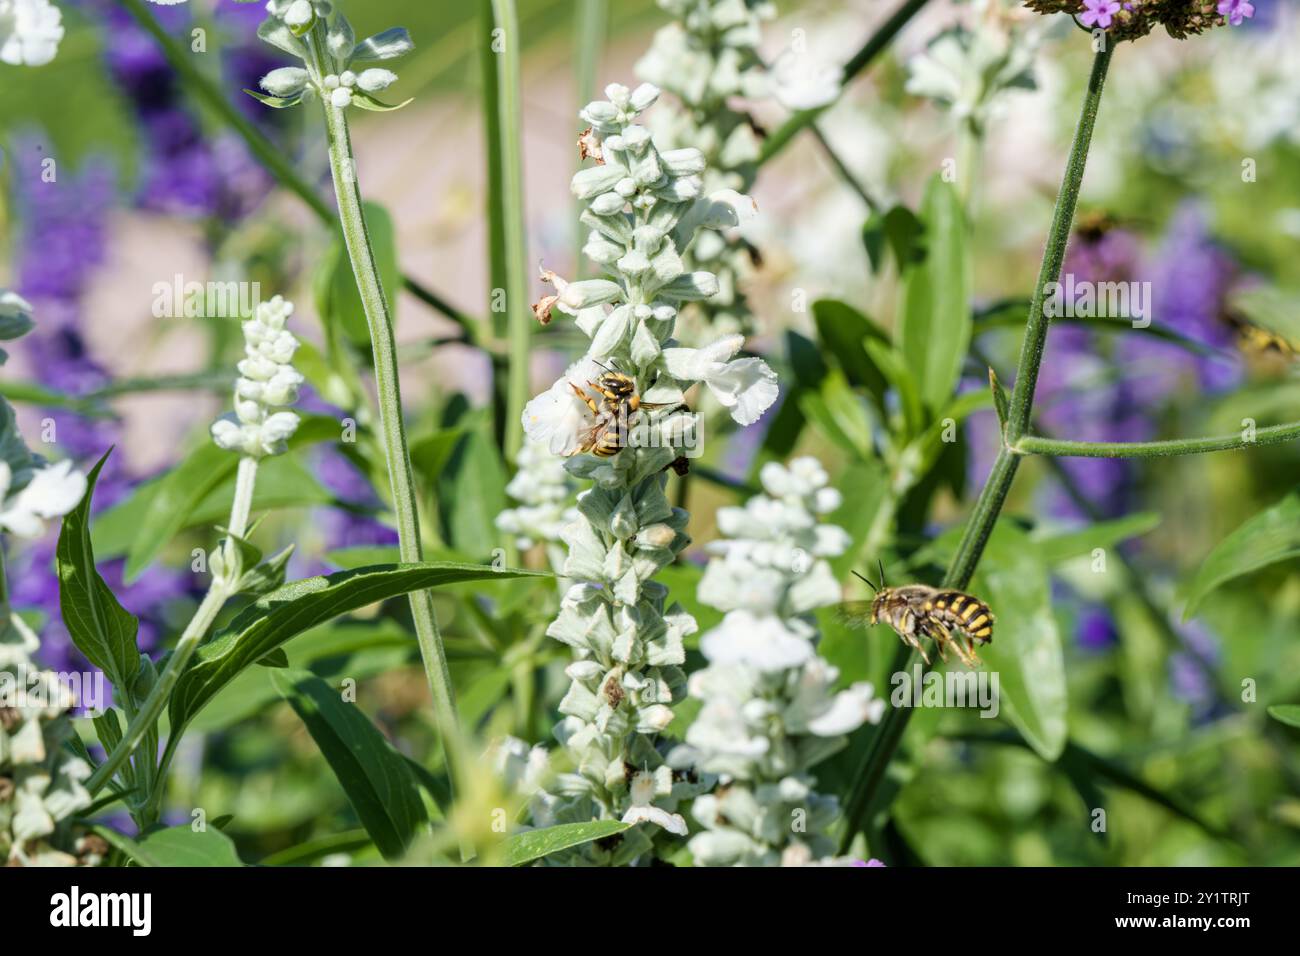
[[[172,732],[196,714],[240,671],[291,637],[359,607],[412,591],[456,581],[543,576],[536,571],[494,570],[482,564],[430,562],[380,564],[292,581],[240,611],[200,646],[172,692]]]

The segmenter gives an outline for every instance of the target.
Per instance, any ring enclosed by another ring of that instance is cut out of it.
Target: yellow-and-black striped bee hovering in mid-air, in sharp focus
[[[840,605],[840,619],[849,627],[868,627],[884,620],[904,644],[920,652],[928,665],[930,656],[920,644],[930,637],[939,648],[939,657],[948,659],[952,648],[967,667],[979,665],[975,656],[978,644],[993,640],[993,611],[978,597],[952,588],[931,588],[928,584],[907,584],[901,588],[885,585],[884,564],[880,566],[880,584],[854,571],[875,592],[871,601],[849,601]]]

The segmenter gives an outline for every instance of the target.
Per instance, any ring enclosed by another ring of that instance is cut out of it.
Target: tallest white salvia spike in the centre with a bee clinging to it
[[[585,251],[604,274],[568,282],[542,269],[554,293],[533,307],[542,323],[555,312],[573,316],[590,346],[523,410],[534,445],[521,457],[520,475],[532,479],[540,471],[533,455],[545,449],[593,485],[577,496],[559,529],[568,553],[556,571],[573,584],[547,628],[573,649],[555,736],[575,770],[556,775],[534,800],[533,822],[641,825],[615,847],[585,844],[555,857],[624,864],[654,851],[664,834],[684,835],[676,806],[701,788],[693,775],[673,774],[659,740],[673,723],[672,704],[686,692],[685,639],[697,630],[654,580],[689,542],[688,515],[670,503],[664,473],[701,447],[698,416],[685,408],[685,393],[706,382],[738,420],[751,421],[775,401],[776,382],[760,359],[734,360],[740,336],[698,355],[673,339],[680,304],[719,289],[711,272],[685,267],[686,248],[702,222],[738,221],[753,212],[753,202],[734,190],[706,196],[699,150],[660,151],[640,122],[658,87],[612,83],[604,94],[581,111],[592,129],[580,151],[595,165],[571,182],[586,204]],[[556,494],[540,507],[550,509],[550,519],[560,503]],[[506,527],[521,528],[536,512],[507,515]]]

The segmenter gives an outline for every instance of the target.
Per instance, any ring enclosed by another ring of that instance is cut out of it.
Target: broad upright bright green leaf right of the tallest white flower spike
[[[957,386],[971,341],[971,261],[957,187],[932,177],[920,217],[926,258],[904,273],[898,350],[922,402],[937,410]]]

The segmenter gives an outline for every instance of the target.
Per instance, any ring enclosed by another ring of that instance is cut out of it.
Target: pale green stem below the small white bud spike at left
[[[240,458],[239,470],[235,475],[235,494],[230,503],[230,520],[226,522],[226,529],[231,535],[243,536],[248,527],[248,511],[252,509],[252,493],[256,481],[257,459],[250,457]],[[172,688],[181,679],[186,666],[190,663],[190,658],[194,657],[194,652],[198,649],[203,636],[208,633],[212,622],[217,619],[217,614],[221,611],[228,597],[230,597],[230,591],[225,579],[213,576],[212,584],[208,585],[208,593],[203,596],[199,609],[190,618],[190,623],[185,626],[185,631],[181,632],[181,639],[176,643],[176,649],[172,652],[172,657],[168,658],[166,667],[159,674],[159,679],[153,683],[139,711],[130,717],[126,734],[122,735],[121,741],[108,754],[108,758],[95,767],[95,773],[86,782],[86,788],[91,793],[98,792],[105,783],[113,779],[113,774],[130,760],[135,748],[140,745],[144,736],[157,723],[159,717],[162,715],[162,708],[166,706],[168,700],[172,697]],[[173,736],[176,736],[174,732]],[[170,750],[172,747],[173,741],[169,739],[168,749]],[[150,766],[153,763],[153,757],[155,754],[148,754]],[[161,780],[162,775],[162,771],[160,771],[159,780]],[[151,787],[152,790],[153,787]],[[152,805],[153,803],[155,797],[151,793],[150,804]]]

